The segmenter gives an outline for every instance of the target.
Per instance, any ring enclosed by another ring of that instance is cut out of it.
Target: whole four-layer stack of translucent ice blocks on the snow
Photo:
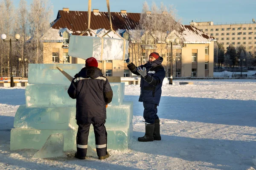
[[[67,94],[70,81],[56,69],[71,76],[84,64],[29,64],[26,105],[20,105],[11,130],[11,150],[40,149],[51,134],[64,135],[64,150],[76,150],[76,100]],[[107,108],[108,148],[126,150],[132,136],[133,103],[123,101],[124,83],[110,83],[112,102]],[[88,144],[95,147],[93,126]]]

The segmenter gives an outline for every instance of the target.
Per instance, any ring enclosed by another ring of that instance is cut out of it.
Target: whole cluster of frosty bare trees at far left
[[[27,76],[28,63],[42,63],[43,42],[40,39],[50,28],[52,14],[49,0],[32,0],[29,6],[26,0],[20,0],[17,8],[13,0],[0,0],[0,34],[7,36],[6,42],[0,40],[0,77],[11,75],[11,57],[13,76]],[[15,34],[20,34],[20,39],[12,42],[10,56],[9,40],[15,40]]]

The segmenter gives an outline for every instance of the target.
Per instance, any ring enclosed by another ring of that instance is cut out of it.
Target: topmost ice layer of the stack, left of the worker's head
[[[57,66],[74,77],[85,64],[29,64],[29,84],[70,85],[70,81],[56,68]]]

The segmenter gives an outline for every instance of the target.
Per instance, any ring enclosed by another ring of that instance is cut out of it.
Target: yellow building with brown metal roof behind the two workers
[[[52,28],[42,38],[44,63],[84,63],[84,59],[69,56],[68,47],[70,36],[79,35],[87,30],[87,14],[87,11],[70,11],[69,8],[58,11],[56,20],[52,22]],[[172,72],[173,77],[213,77],[213,41],[215,39],[203,31],[193,26],[180,25],[180,30],[172,31],[168,35],[173,45],[166,45],[164,40],[166,33],[163,33],[163,36],[157,34],[157,37],[152,34],[137,34],[135,29],[140,21],[140,13],[127,13],[121,10],[111,12],[111,18],[113,30],[129,40],[128,55],[135,65],[144,64],[148,61],[148,55],[156,51],[164,59],[162,64],[168,73],[166,76]],[[110,29],[108,12],[93,9],[90,28],[97,34],[107,32]],[[147,37],[146,40],[145,37]],[[176,44],[175,39],[181,43]],[[156,40],[157,48],[154,45]],[[132,76],[124,60],[98,62],[98,67],[106,76]]]

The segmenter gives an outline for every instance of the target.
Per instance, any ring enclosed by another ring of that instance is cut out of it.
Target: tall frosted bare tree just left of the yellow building
[[[30,24],[30,59],[35,63],[43,62],[43,42],[42,35],[50,28],[49,19],[52,16],[52,6],[49,0],[33,0],[31,12],[29,14]]]

